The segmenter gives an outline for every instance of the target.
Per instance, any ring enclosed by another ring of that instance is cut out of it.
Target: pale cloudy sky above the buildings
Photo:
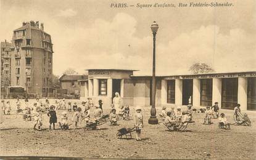
[[[135,7],[110,7],[118,2],[0,0],[0,41],[11,41],[23,21],[39,21],[51,34],[56,75],[67,68],[80,74],[88,68],[114,68],[151,75],[150,26],[156,21],[157,75],[188,74],[197,62],[216,73],[256,71],[256,1],[212,0],[233,6],[183,8],[178,3],[189,1],[157,1],[176,7],[142,9],[136,5],[156,1],[122,1]]]

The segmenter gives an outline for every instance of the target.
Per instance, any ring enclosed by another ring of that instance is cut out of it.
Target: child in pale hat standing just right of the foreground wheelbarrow
[[[143,116],[141,113],[141,107],[136,107],[136,113],[134,114],[134,126],[136,127],[136,140],[141,140],[141,129],[143,128]]]

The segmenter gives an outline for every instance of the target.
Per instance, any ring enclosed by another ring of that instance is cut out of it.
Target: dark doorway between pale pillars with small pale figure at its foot
[[[191,96],[191,105],[193,105],[193,79],[183,79],[182,81],[182,105],[188,105]]]

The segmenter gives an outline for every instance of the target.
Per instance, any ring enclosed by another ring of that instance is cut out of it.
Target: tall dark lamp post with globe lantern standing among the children
[[[152,107],[151,107],[151,117],[149,118],[149,124],[158,124],[158,119],[155,116],[157,111],[155,110],[155,35],[157,34],[159,26],[154,21],[151,25],[151,30],[153,34],[153,68],[152,68]]]

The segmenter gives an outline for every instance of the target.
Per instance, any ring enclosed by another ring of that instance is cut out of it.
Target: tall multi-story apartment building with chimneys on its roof
[[[39,27],[39,22],[23,22],[22,27],[14,30],[10,46],[10,86],[22,86],[38,96],[51,96],[52,41],[43,23]]]

